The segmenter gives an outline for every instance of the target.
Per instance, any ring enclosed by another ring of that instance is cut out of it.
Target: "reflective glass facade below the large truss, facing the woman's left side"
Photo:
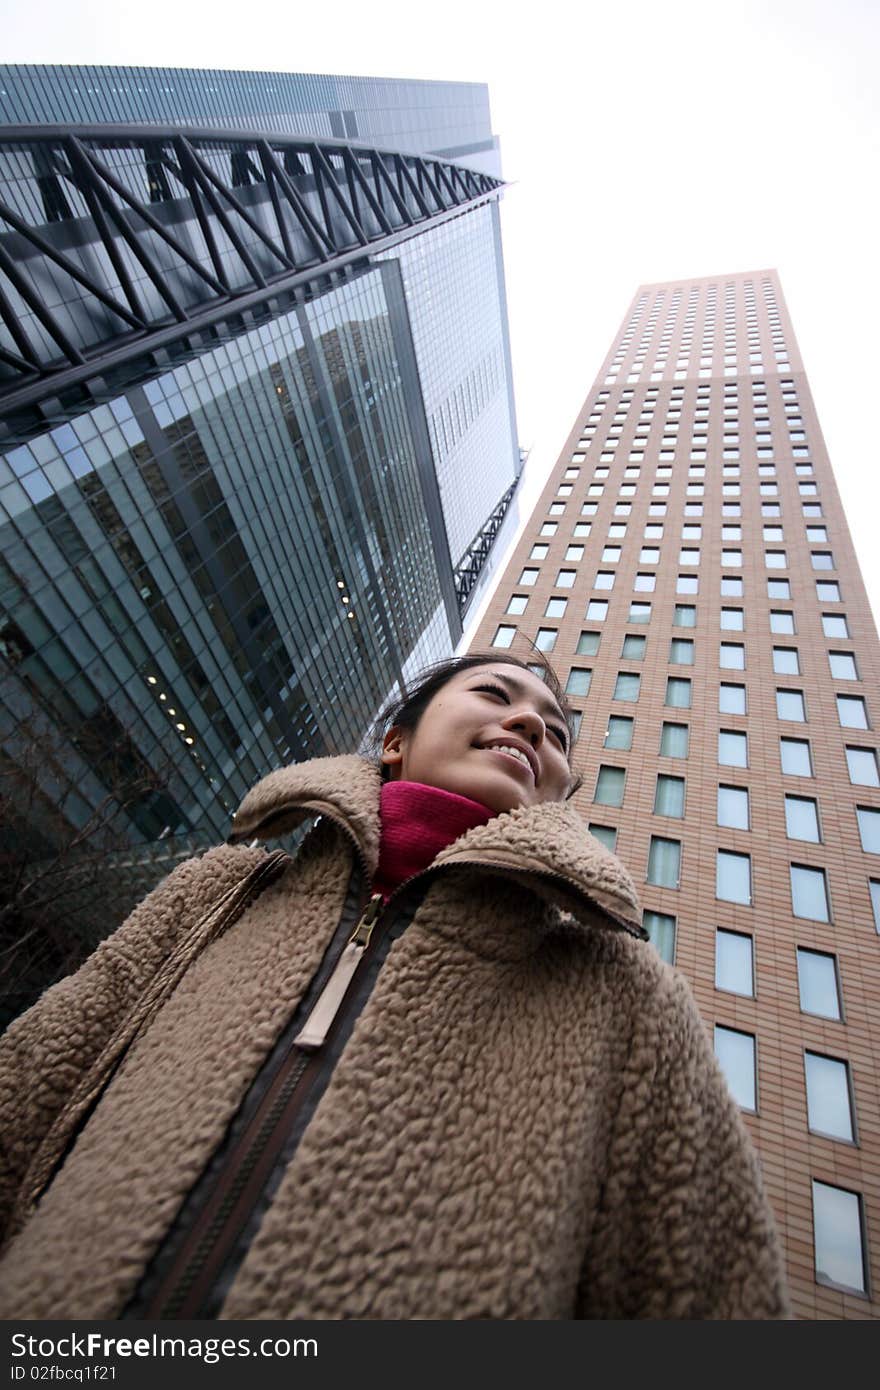
[[[133,840],[221,833],[264,771],[352,749],[407,660],[452,649],[396,274],[0,460],[3,734],[57,720],[72,823],[152,769]]]

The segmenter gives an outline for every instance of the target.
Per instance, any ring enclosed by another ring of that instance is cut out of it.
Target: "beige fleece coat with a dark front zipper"
[[[311,979],[377,770],[272,773],[236,835],[321,815],[129,1049],[0,1259],[0,1316],[114,1318]],[[0,1208],[168,952],[264,856],[178,867],[0,1045]],[[777,1318],[755,1154],[684,979],[570,805],[449,845],[393,944],[224,1318]],[[627,926],[630,930],[627,930]]]

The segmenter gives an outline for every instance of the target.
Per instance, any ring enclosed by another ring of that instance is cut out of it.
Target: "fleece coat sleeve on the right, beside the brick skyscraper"
[[[687,981],[660,969],[633,1033],[577,1315],[787,1318],[758,1156]]]

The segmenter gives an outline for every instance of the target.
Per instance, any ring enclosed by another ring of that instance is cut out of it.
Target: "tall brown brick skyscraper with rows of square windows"
[[[530,642],[744,1109],[797,1314],[880,1316],[880,646],[774,271],[635,295],[471,648]]]

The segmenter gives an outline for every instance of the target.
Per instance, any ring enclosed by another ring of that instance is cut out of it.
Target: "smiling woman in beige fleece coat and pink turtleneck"
[[[776,1318],[755,1155],[570,713],[427,673],[7,1036],[6,1318]],[[293,860],[257,838],[317,817]]]

